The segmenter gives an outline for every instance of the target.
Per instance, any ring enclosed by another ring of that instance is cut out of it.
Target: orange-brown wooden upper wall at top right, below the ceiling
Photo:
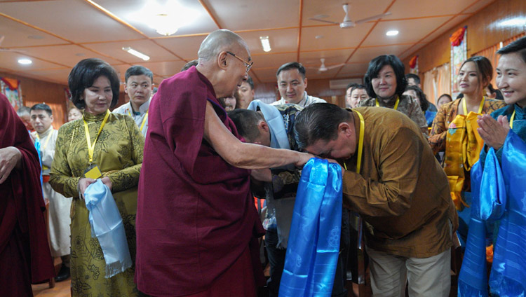
[[[406,70],[409,69],[409,60],[414,55],[419,55],[419,75],[421,78],[423,78],[424,72],[450,62],[450,35],[466,25],[468,26],[468,57],[500,41],[518,35],[524,32],[523,27],[500,27],[497,25],[501,21],[515,17],[526,18],[525,0],[497,0],[409,55],[403,61]]]

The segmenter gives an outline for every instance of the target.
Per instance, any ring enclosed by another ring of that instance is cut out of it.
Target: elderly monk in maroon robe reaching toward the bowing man
[[[264,282],[251,170],[300,166],[311,155],[241,141],[217,98],[232,96],[251,65],[245,41],[217,30],[197,67],[163,81],[151,101],[136,219],[144,293],[250,297]]]

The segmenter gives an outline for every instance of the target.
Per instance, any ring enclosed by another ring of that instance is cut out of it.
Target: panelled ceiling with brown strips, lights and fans
[[[155,1],[155,0],[150,0]],[[363,76],[377,55],[401,59],[496,0],[158,0],[178,1],[196,19],[172,36],[161,36],[130,17],[147,0],[0,0],[0,71],[67,84],[69,70],[86,57],[112,64],[123,78],[133,64],[154,72],[161,83],[194,60],[201,41],[215,29],[231,29],[250,47],[256,83],[274,82],[281,64],[299,61],[309,79]],[[341,22],[342,4],[349,2],[352,20],[391,15],[350,29],[316,22]],[[324,16],[325,15],[325,16]],[[386,36],[397,29],[398,36]],[[259,36],[269,36],[272,50],[262,50]],[[147,54],[147,62],[123,51]],[[18,64],[27,57],[32,64]],[[342,67],[318,73],[325,65]]]

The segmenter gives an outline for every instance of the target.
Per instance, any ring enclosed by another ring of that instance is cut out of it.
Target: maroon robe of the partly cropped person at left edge
[[[55,276],[43,212],[39,156],[8,99],[0,94],[0,148],[15,146],[22,170],[0,184],[0,296],[33,296],[31,283]]]

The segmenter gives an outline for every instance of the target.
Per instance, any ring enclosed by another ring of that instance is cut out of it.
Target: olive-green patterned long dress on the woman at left
[[[84,113],[91,143],[105,113]],[[79,199],[78,184],[88,167],[88,144],[83,120],[66,123],[58,131],[49,184],[55,191],[73,197],[71,209],[71,276],[73,296],[137,296],[135,273],[135,214],[137,184],[142,165],[144,137],[132,118],[111,113],[95,144],[93,163],[112,181],[112,193],[121,213],[133,265],[105,278],[104,255],[96,237],[91,237],[88,209]]]

